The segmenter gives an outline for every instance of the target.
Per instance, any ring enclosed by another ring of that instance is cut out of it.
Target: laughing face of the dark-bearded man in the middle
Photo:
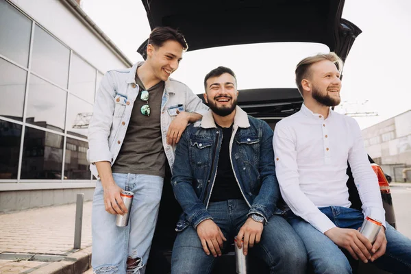
[[[219,116],[232,114],[236,109],[237,96],[236,79],[229,73],[207,79],[204,99],[214,114]]]

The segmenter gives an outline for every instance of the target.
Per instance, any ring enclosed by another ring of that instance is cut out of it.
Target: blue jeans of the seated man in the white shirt
[[[358,229],[364,221],[364,214],[353,208],[327,206],[319,210],[341,228]],[[310,223],[295,216],[290,210],[287,221],[306,245],[308,260],[315,273],[352,273],[349,260],[332,240]],[[390,273],[411,273],[411,240],[388,223],[386,223],[386,239],[387,247],[384,256],[369,263]]]

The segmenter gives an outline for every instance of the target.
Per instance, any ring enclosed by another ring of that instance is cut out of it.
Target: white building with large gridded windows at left
[[[0,0],[0,212],[92,199],[101,77],[132,66],[79,0]]]

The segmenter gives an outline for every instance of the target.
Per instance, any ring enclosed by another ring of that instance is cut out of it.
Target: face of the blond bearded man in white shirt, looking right
[[[329,60],[322,60],[310,66],[310,77],[304,79],[303,87],[311,91],[312,98],[321,105],[334,107],[341,101],[340,72]]]

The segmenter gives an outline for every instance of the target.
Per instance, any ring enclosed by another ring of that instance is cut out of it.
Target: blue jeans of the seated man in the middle
[[[225,238],[224,247],[231,244],[234,236],[247,220],[249,206],[243,200],[210,203],[208,212],[214,218]],[[259,256],[270,267],[271,273],[305,273],[307,253],[303,242],[282,216],[273,215],[264,225],[260,243],[249,249],[251,256]],[[203,251],[196,230],[190,226],[177,234],[171,257],[171,273],[210,273],[214,256]]]

